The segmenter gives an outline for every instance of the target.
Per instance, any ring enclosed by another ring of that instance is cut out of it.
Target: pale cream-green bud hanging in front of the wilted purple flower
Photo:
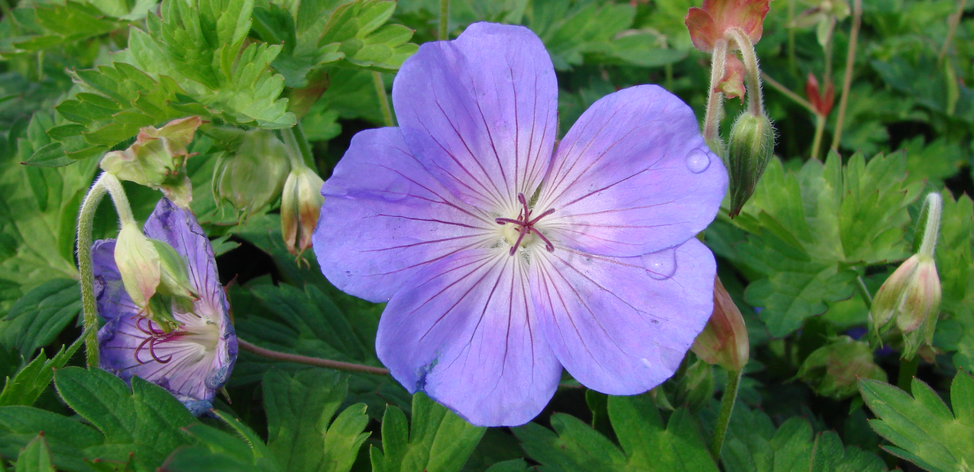
[[[162,276],[159,251],[134,222],[124,223],[115,243],[115,264],[132,303],[141,309],[149,306]]]

